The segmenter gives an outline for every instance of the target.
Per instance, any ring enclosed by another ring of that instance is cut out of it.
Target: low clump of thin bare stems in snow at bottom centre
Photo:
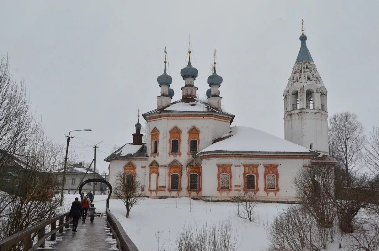
[[[230,220],[223,220],[219,227],[184,226],[176,238],[178,251],[235,251],[238,247],[238,232],[232,231]]]

